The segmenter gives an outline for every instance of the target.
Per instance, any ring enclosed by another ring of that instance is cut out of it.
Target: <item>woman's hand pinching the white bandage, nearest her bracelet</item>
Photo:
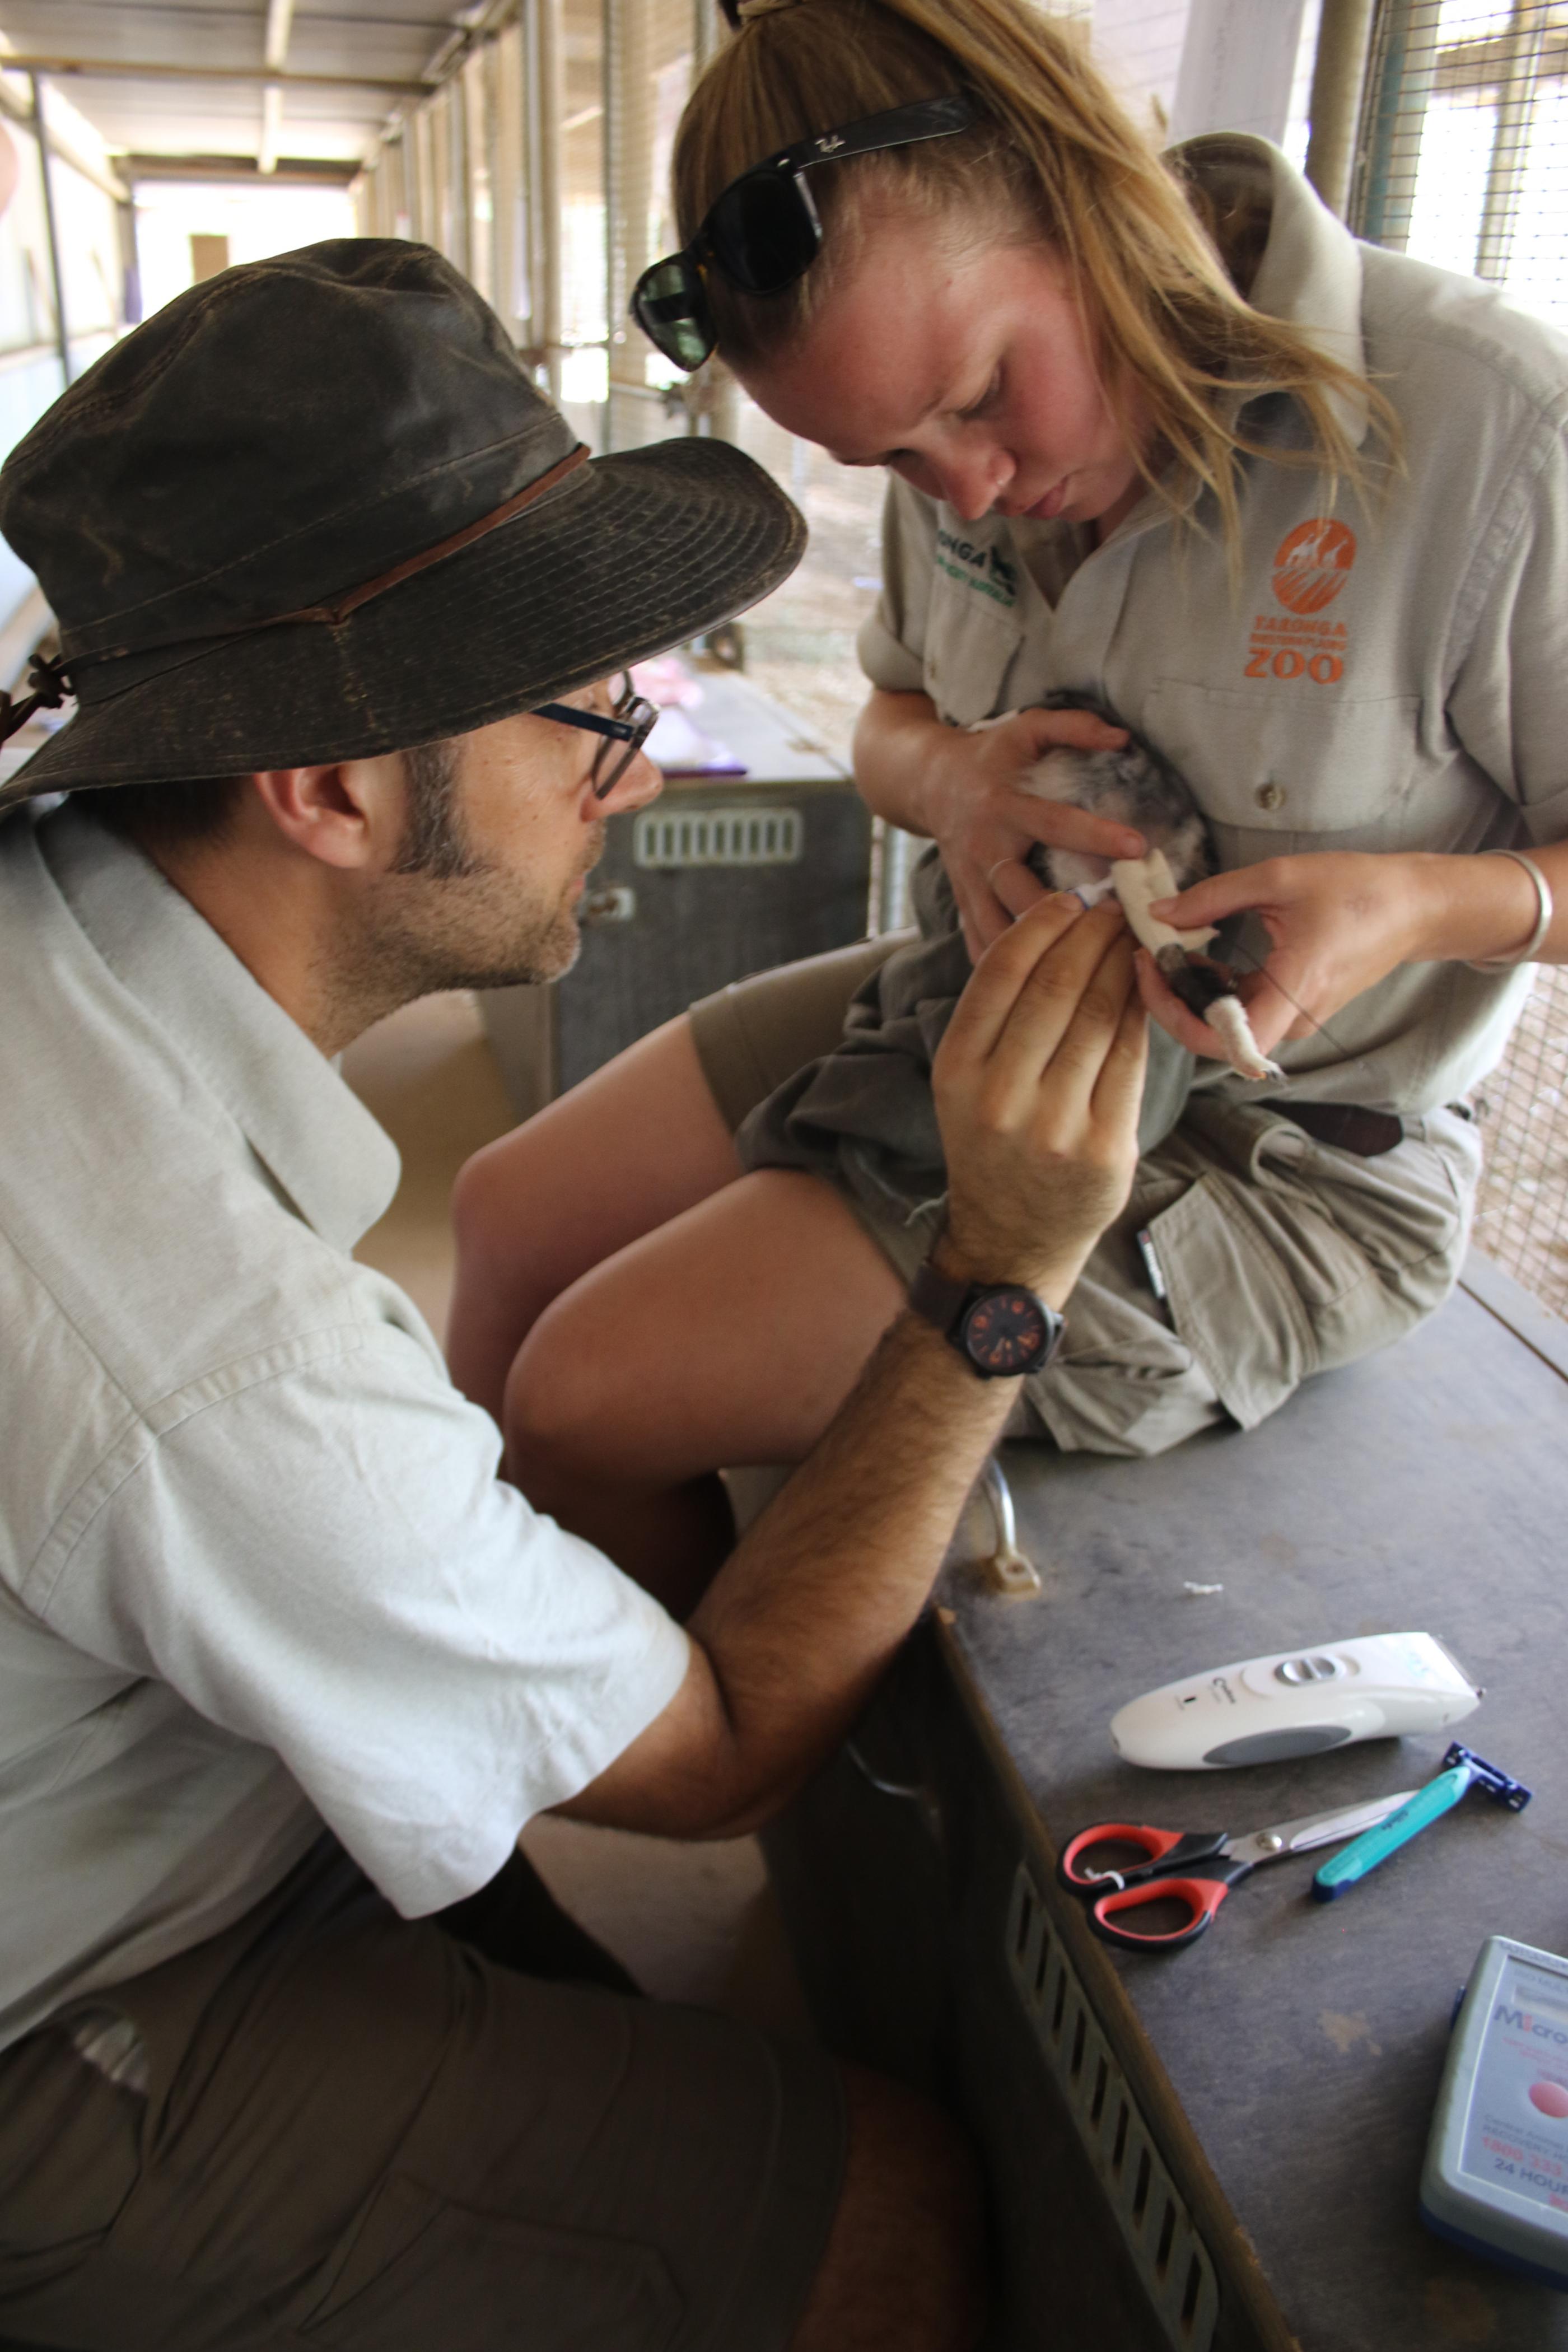
[[[1150,910],[1178,931],[1197,931],[1227,915],[1253,913],[1269,934],[1262,971],[1237,981],[1260,1054],[1281,1037],[1312,1037],[1342,1004],[1375,988],[1396,964],[1425,950],[1427,906],[1422,870],[1429,858],[1394,854],[1319,851],[1265,858],[1237,873],[1197,882]],[[1225,1061],[1225,1047],[1166,988],[1154,957],[1140,953],[1143,1002],[1178,1044]]]

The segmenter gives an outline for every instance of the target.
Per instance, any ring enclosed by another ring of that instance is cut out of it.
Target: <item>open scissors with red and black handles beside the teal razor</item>
[[[1088,1924],[1105,1943],[1119,1943],[1128,1952],[1180,1952],[1208,1929],[1232,1886],[1248,1879],[1262,1863],[1284,1863],[1291,1853],[1309,1853],[1312,1846],[1333,1846],[1342,1837],[1359,1837],[1408,1802],[1410,1792],[1401,1790],[1366,1804],[1342,1804],[1333,1813],[1279,1820],[1272,1830],[1253,1830],[1248,1837],[1227,1837],[1225,1830],[1157,1830],[1150,1823],[1093,1820],[1063,1853],[1058,1877],[1074,1893],[1093,1896]],[[1095,1846],[1133,1846],[1145,1860],[1095,1870],[1088,1860]],[[1187,1919],[1161,1931],[1124,1926],[1124,1915],[1143,1910],[1145,1903],[1185,1905]]]

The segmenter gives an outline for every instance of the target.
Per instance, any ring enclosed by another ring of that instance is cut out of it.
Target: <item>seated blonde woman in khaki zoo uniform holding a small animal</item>
[[[1568,953],[1563,339],[1359,247],[1260,139],[1157,155],[1027,0],[733,21],[635,308],[891,475],[856,779],[933,842],[919,938],[693,1007],[456,1200],[454,1374],[529,1494],[677,1602],[726,1536],[710,1472],[797,1461],[910,1287],[997,1369],[994,1305],[940,1279],[931,1051],[1037,844],[1145,847],[1020,793],[1041,753],[1126,727],[1182,771],[1220,870],[1171,915],[1241,917],[1222,953],[1284,1077],[1211,1058],[1143,957],[1138,1188],[1065,1334],[1006,1367],[1018,1432],[1251,1428],[1439,1305],[1462,1096],[1523,964]]]

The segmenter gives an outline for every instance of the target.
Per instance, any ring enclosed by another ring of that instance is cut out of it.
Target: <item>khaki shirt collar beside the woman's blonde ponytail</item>
[[[1366,383],[1361,247],[1291,158],[1248,132],[1206,132],[1173,153],[1211,193],[1267,205],[1269,235],[1248,289],[1253,310],[1298,327],[1316,350]],[[1359,449],[1371,426],[1366,400],[1354,390],[1328,390],[1326,397]]]

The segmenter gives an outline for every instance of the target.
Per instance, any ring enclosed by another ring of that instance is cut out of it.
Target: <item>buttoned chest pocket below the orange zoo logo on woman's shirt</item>
[[[1326,835],[1342,849],[1406,847],[1418,724],[1418,694],[1354,699],[1302,682],[1248,694],[1161,677],[1143,713],[1204,816],[1227,828],[1227,866],[1326,849]]]

